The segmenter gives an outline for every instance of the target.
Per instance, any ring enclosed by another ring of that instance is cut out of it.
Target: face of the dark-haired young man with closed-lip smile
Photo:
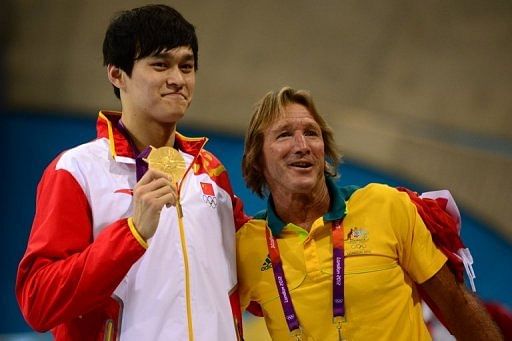
[[[146,122],[176,123],[185,115],[194,94],[192,49],[177,47],[136,60],[131,76],[123,76],[124,113]]]

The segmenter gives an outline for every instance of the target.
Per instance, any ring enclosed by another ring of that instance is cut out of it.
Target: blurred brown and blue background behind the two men
[[[180,130],[210,137],[249,214],[264,205],[240,171],[253,105],[284,85],[308,89],[345,155],[341,183],[449,189],[478,295],[512,307],[512,2],[163,2],[199,37]],[[0,340],[48,338],[30,333],[14,297],[35,188],[60,151],[95,138],[98,110],[120,109],[101,44],[114,13],[146,3],[0,4]]]

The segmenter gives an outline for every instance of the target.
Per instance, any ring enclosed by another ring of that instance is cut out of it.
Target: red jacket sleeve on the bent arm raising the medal
[[[36,213],[16,279],[23,316],[46,331],[98,307],[143,254],[127,223],[107,226],[96,239],[88,200],[55,160],[37,189]]]

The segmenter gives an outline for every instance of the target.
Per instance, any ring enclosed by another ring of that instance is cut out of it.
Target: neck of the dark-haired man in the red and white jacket
[[[148,146],[155,148],[173,146],[176,137],[176,123],[162,124],[154,121],[137,122],[129,115],[122,116],[123,124],[137,150]]]

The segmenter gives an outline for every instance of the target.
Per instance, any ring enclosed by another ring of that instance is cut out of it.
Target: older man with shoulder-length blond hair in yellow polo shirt
[[[245,141],[247,185],[267,209],[237,232],[243,308],[273,340],[430,340],[421,287],[461,340],[500,340],[448,269],[406,193],[335,185],[332,132],[305,91],[256,108]]]

